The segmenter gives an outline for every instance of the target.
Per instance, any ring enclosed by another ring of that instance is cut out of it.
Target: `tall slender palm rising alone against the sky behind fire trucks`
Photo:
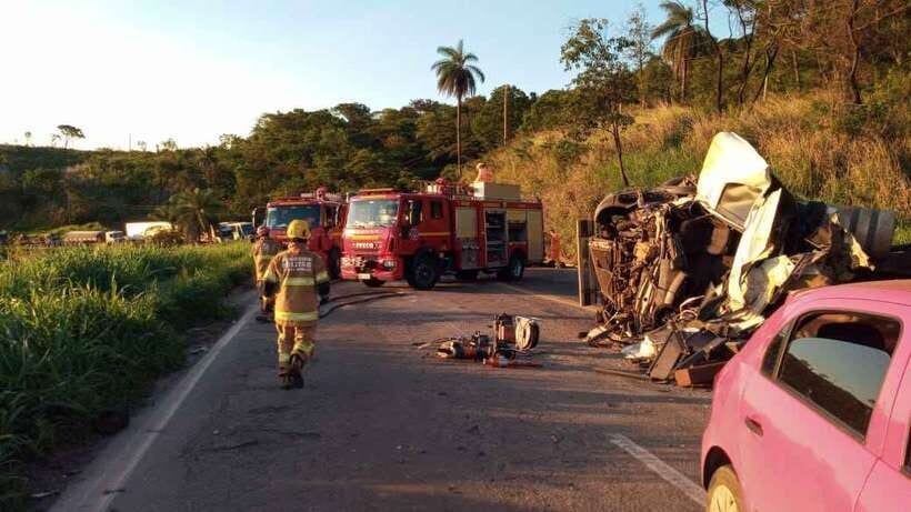
[[[456,48],[439,47],[437,53],[443,56],[430,67],[437,72],[437,89],[447,96],[456,97],[456,158],[459,178],[462,177],[462,98],[475,91],[475,79],[484,81],[484,73],[471,62],[478,62],[478,56],[465,53],[462,40]]]

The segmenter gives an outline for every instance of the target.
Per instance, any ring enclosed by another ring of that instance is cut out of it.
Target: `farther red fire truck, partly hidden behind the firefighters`
[[[339,194],[329,193],[324,188],[312,193],[302,193],[287,198],[276,198],[266,204],[263,225],[269,228],[269,237],[282,244],[288,239],[284,235],[288,224],[294,219],[310,223],[309,249],[320,253],[333,279],[340,275],[341,235],[348,204]],[[253,225],[259,225],[257,214],[261,209],[253,210]]]

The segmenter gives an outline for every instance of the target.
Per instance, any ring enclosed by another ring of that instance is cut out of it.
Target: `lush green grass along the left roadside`
[[[248,251],[73,248],[0,263],[0,510],[27,505],[22,461],[128,410],[183,362],[187,328],[231,314]]]

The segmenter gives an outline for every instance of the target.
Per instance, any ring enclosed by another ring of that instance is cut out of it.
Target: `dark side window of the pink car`
[[[884,317],[804,315],[781,357],[778,380],[864,436],[900,334],[901,324]]]

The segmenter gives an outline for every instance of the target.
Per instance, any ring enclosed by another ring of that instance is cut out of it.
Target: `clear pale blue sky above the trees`
[[[644,1],[652,22],[658,0]],[[430,64],[462,38],[487,94],[502,83],[563,88],[567,27],[618,27],[634,1],[611,0],[0,0],[0,142],[149,148],[247,135],[263,112],[358,101],[373,110],[440,98]],[[721,18],[719,12],[718,18]],[[727,36],[727,18],[719,20]],[[713,23],[715,24],[715,23]]]

